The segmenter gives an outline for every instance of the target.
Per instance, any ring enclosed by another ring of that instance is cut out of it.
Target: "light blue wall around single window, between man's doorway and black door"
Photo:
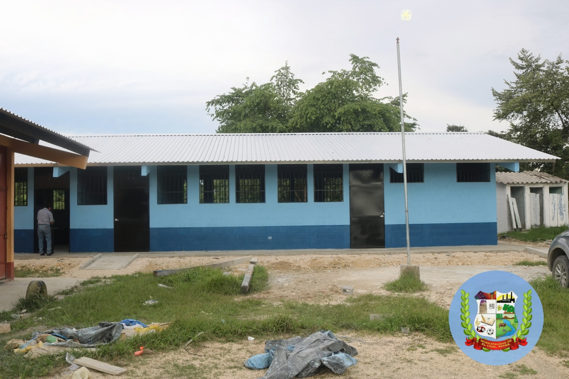
[[[113,167],[107,167],[107,204],[77,205],[77,169],[69,170],[69,227],[71,229],[112,229]]]

